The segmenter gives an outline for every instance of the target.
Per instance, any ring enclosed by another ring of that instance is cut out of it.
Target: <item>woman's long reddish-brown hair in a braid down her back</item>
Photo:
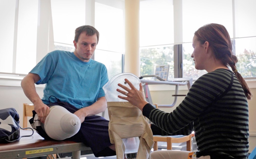
[[[206,24],[199,28],[195,35],[199,42],[204,44],[209,42],[209,47],[214,52],[217,59],[221,60],[224,65],[230,66],[234,74],[240,81],[247,99],[251,99],[252,93],[240,73],[237,72],[237,57],[232,54],[232,43],[227,29],[221,24]]]

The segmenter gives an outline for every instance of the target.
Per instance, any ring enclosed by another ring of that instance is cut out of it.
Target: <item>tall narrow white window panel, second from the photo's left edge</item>
[[[38,1],[19,1],[16,73],[27,74],[36,64]]]

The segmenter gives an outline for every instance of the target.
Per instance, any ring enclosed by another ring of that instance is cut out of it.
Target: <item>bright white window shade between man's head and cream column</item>
[[[95,3],[95,28],[100,32],[98,49],[124,53],[122,9]]]

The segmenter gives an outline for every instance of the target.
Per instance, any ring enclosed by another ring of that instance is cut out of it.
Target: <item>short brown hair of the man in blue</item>
[[[99,43],[99,37],[100,34],[98,32],[98,30],[96,30],[93,26],[90,25],[83,25],[83,26],[79,26],[76,30],[75,30],[75,38],[74,41],[78,41],[78,38],[80,36],[81,33],[86,32],[87,36],[92,36],[94,34],[97,35],[97,44]]]

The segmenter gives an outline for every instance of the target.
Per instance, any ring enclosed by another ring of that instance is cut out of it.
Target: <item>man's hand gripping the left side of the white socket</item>
[[[38,115],[38,119],[42,123],[45,123],[45,119],[50,112],[50,108],[44,103],[39,103],[39,104],[34,104],[34,109]]]

